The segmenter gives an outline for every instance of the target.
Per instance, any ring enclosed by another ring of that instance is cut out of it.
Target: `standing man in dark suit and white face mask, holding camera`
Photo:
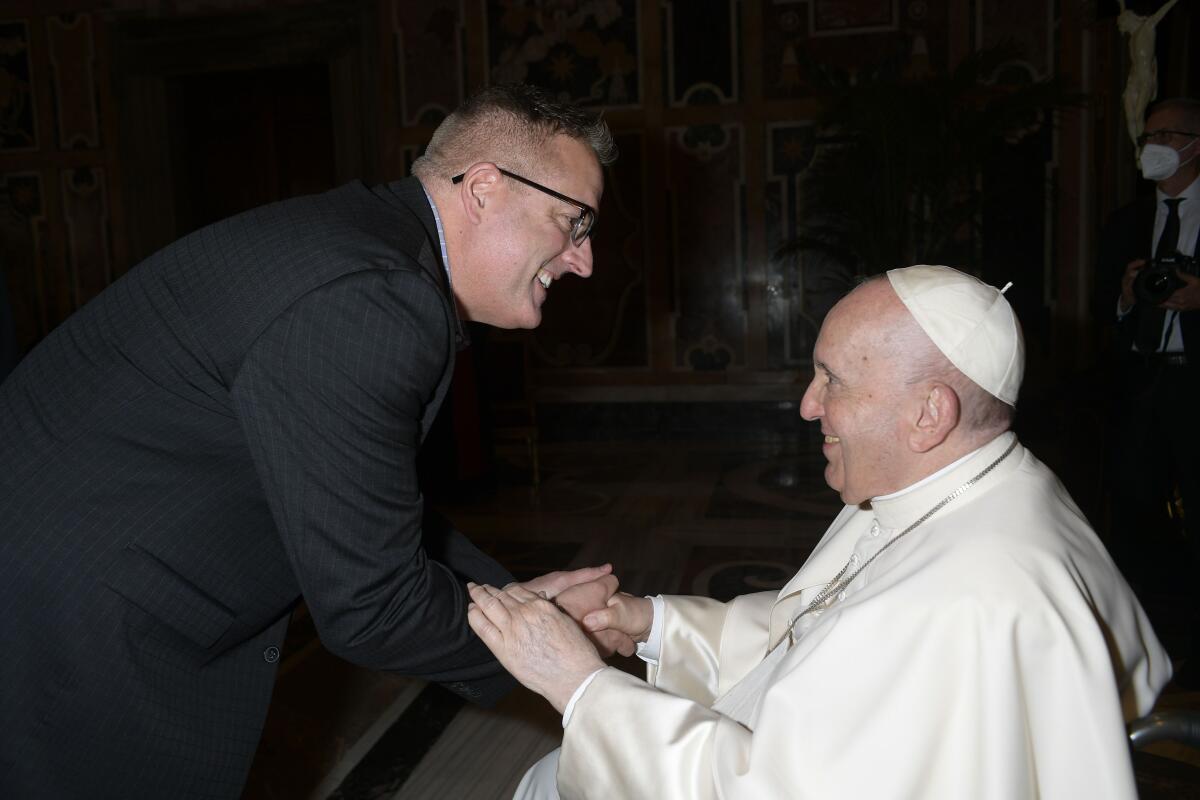
[[[1180,489],[1186,518],[1200,518],[1200,426],[1195,423],[1200,277],[1176,271],[1182,285],[1158,303],[1139,296],[1135,284],[1153,258],[1195,255],[1200,103],[1178,98],[1156,104],[1140,144],[1141,172],[1154,181],[1154,193],[1118,210],[1102,231],[1097,313],[1115,323],[1121,359],[1109,470],[1112,549],[1130,582],[1148,589],[1169,581],[1171,559],[1156,547],[1152,531],[1165,519],[1174,487]],[[1193,522],[1190,528],[1198,527]],[[1196,533],[1189,530],[1193,551],[1200,540]],[[1193,558],[1200,559],[1200,552],[1193,552]],[[1194,680],[1196,667],[1187,664],[1177,680]]]

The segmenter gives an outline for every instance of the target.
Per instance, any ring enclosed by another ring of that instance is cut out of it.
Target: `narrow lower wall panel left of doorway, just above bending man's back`
[[[65,169],[61,178],[67,264],[78,308],[113,282],[108,187],[100,167]]]

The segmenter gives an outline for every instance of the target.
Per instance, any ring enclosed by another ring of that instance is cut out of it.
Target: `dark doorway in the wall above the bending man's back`
[[[167,82],[176,233],[332,188],[328,64]]]

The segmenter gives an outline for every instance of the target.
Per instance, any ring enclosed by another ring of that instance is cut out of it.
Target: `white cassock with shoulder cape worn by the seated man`
[[[648,680],[607,668],[578,698],[562,796],[1134,799],[1126,722],[1151,710],[1170,661],[1066,489],[1019,444],[787,634],[852,555],[870,558],[1010,444],[847,506],[778,594],[667,597]],[[552,795],[545,777],[529,776],[530,796]]]

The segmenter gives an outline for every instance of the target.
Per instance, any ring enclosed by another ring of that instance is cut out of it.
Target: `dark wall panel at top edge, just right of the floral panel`
[[[740,25],[737,0],[664,0],[668,106],[736,103]]]

